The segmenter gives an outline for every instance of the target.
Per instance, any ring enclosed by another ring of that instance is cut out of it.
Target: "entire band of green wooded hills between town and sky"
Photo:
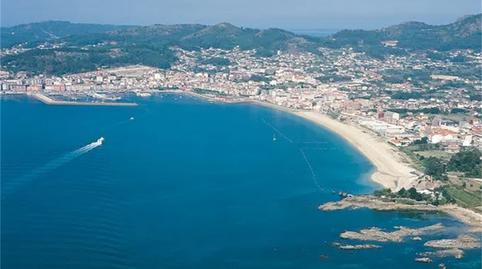
[[[229,23],[113,26],[44,22],[1,28],[2,48],[22,44],[32,48],[2,57],[9,71],[32,74],[75,73],[100,67],[142,64],[168,68],[176,61],[171,50],[202,48],[256,50],[270,57],[278,50],[316,52],[319,47],[353,47],[369,56],[404,55],[410,50],[480,50],[481,15],[465,17],[452,24],[433,26],[405,23],[375,31],[345,30],[327,38],[296,35],[281,29],[251,29]],[[396,47],[382,42],[397,40]],[[38,47],[41,42],[50,46]],[[54,46],[55,45],[55,46]],[[431,52],[433,57],[438,54]],[[462,59],[463,60],[463,59]],[[390,75],[394,80],[405,79]],[[428,76],[426,76],[428,77]]]

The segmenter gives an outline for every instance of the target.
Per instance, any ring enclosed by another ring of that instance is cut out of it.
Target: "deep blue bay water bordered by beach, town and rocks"
[[[440,214],[317,210],[333,191],[378,188],[371,164],[328,130],[253,104],[136,101],[2,99],[1,268],[481,267],[480,250],[416,263],[430,250],[419,241],[333,247],[350,243],[345,230],[441,222],[426,237],[440,238],[464,227]]]

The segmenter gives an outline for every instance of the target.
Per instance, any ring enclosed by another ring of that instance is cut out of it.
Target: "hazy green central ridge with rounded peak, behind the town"
[[[258,30],[229,23],[139,26],[101,34],[72,36],[65,40],[75,45],[116,42],[123,46],[178,46],[189,50],[211,47],[232,49],[239,46],[243,50],[256,49],[263,55],[272,55],[277,50],[313,49],[318,42],[317,39],[281,29]]]

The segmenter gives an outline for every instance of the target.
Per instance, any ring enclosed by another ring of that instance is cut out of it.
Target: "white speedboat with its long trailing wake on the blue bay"
[[[7,182],[5,183],[4,186],[2,186],[2,196],[4,195],[8,195],[10,194],[11,192],[15,191],[17,188],[19,188],[20,186],[22,185],[25,185],[31,181],[33,181],[35,178],[38,178],[38,177],[41,177],[63,165],[65,165],[66,163],[74,160],[75,158],[83,155],[83,154],[86,154],[87,152],[97,148],[97,147],[100,147],[102,144],[104,143],[104,138],[101,137],[99,139],[97,139],[96,141],[88,144],[88,145],[85,145],[79,149],[76,149],[74,151],[71,151],[57,159],[54,159],[46,164],[44,164],[43,166],[41,167],[38,167],[36,169],[34,169],[32,172],[30,172],[29,174],[26,174],[16,180],[12,180],[11,182]]]

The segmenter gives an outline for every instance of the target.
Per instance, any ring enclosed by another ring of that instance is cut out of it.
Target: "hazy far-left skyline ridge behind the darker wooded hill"
[[[1,27],[1,46],[8,48],[25,42],[42,42],[70,35],[103,33],[127,28],[127,26],[46,21]]]

